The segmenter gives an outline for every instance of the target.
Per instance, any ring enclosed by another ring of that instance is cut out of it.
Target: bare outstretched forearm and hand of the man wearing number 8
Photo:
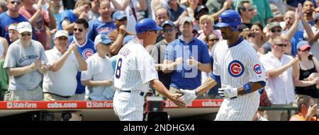
[[[180,94],[173,95],[172,93],[169,93],[169,90],[167,90],[167,88],[165,88],[164,84],[161,81],[154,79],[154,80],[150,81],[150,86],[152,88],[154,88],[155,90],[157,90],[157,92],[159,94],[164,95],[166,98],[173,101],[179,107],[186,106],[184,102],[181,102],[181,100],[179,100],[179,97],[181,95]]]

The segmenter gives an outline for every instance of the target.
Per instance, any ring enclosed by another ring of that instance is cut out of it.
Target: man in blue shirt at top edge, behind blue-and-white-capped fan
[[[92,41],[99,34],[108,35],[108,33],[116,30],[111,17],[112,9],[110,1],[99,1],[99,13],[99,18],[89,21],[89,33],[87,37]]]

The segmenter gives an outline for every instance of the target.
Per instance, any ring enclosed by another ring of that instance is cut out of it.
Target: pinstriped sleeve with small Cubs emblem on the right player
[[[265,70],[262,66],[262,62],[260,62],[257,53],[252,51],[254,50],[251,49],[251,51],[248,51],[248,56],[246,60],[246,67],[248,74],[250,76],[250,82],[266,81]]]

